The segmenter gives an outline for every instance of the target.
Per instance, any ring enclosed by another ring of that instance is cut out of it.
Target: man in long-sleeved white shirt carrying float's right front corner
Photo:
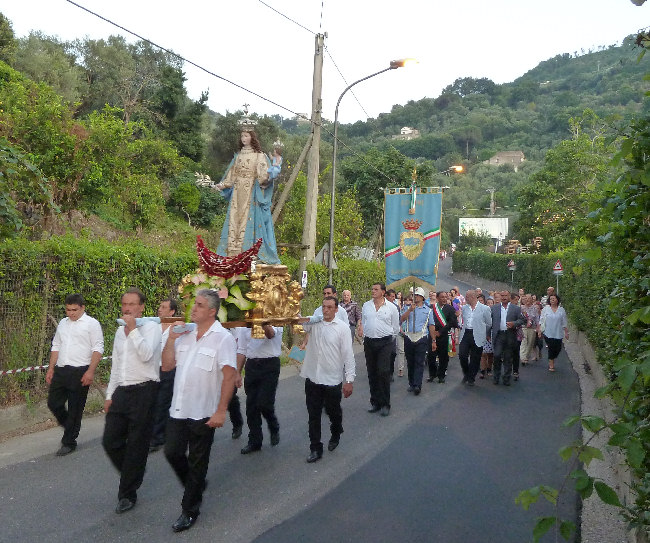
[[[352,394],[355,376],[352,338],[346,322],[336,318],[338,301],[334,296],[323,300],[323,320],[303,324],[311,334],[300,375],[305,378],[305,400],[309,414],[309,456],[312,463],[323,457],[321,415],[323,408],[330,419],[331,438],[327,450],[338,447],[343,433],[341,395]],[[345,384],[342,381],[345,379]]]

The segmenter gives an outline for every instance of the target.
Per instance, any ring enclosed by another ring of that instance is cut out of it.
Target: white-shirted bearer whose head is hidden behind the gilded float
[[[280,443],[280,423],[275,415],[275,393],[280,378],[282,327],[265,324],[263,339],[251,338],[250,328],[237,328],[237,367],[244,367],[246,392],[246,423],[248,444],[242,454],[262,448],[262,417],[271,434],[271,446]],[[243,358],[243,360],[242,360]]]

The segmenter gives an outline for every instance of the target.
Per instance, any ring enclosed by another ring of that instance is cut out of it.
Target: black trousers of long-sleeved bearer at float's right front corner
[[[343,433],[342,389],[342,383],[332,386],[318,385],[309,379],[305,379],[305,402],[307,403],[307,413],[309,415],[310,451],[323,452],[320,429],[323,408],[325,408],[325,413],[330,419],[332,439],[338,440]]]

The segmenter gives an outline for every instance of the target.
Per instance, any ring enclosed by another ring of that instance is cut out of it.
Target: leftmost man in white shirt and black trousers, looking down
[[[86,314],[81,294],[65,298],[65,314],[52,340],[50,367],[45,381],[50,385],[47,406],[63,427],[57,456],[77,448],[88,389],[104,353],[104,335],[96,319]],[[67,408],[66,408],[67,403]]]

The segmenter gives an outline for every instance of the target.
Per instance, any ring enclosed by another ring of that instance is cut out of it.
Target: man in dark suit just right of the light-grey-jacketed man
[[[501,292],[501,303],[492,306],[492,377],[495,385],[499,384],[503,366],[503,384],[510,386],[512,362],[517,349],[517,327],[525,322],[521,308],[515,303],[516,297],[516,294],[513,294],[511,298],[510,292],[504,290]]]

